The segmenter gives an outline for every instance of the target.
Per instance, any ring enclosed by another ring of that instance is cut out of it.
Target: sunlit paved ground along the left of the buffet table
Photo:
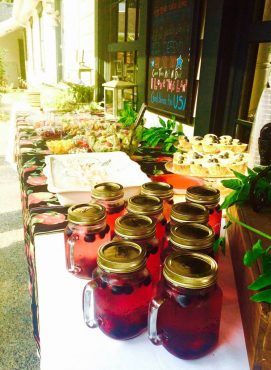
[[[10,101],[0,105],[0,370],[37,370],[28,272],[24,256],[20,188],[5,161]]]

